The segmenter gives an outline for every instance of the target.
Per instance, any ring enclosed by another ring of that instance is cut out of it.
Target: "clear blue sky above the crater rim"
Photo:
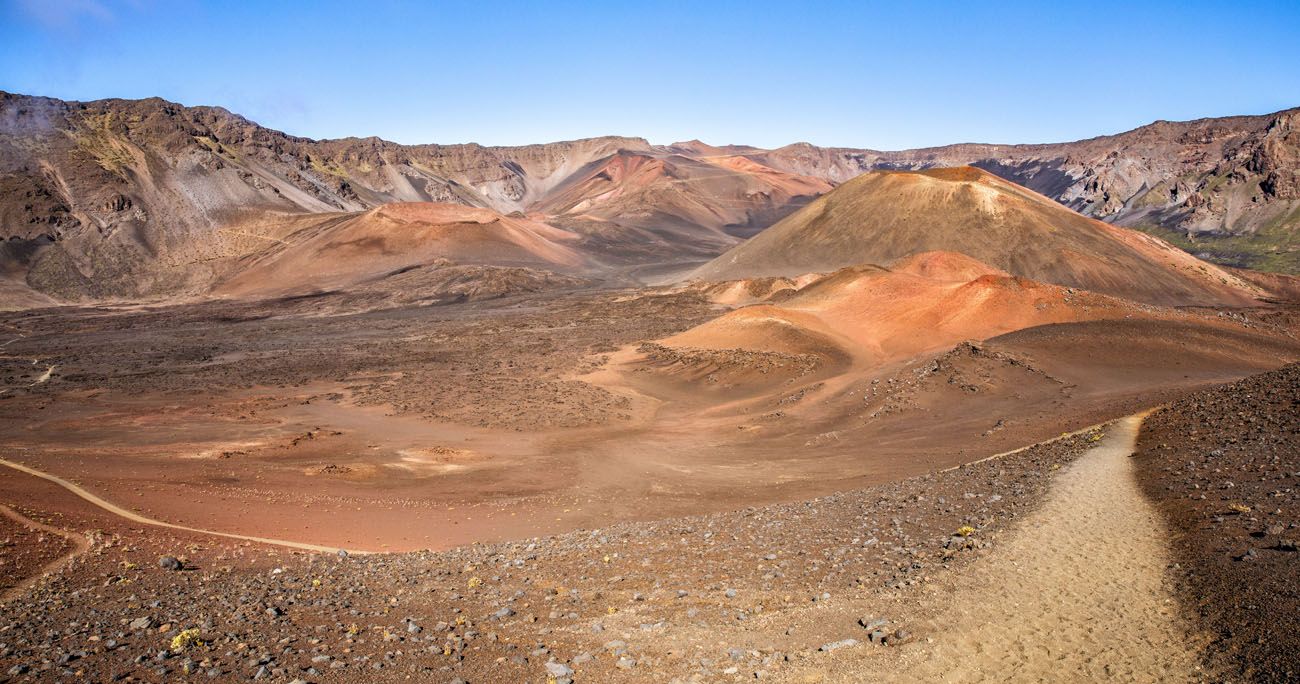
[[[312,138],[897,150],[1300,105],[1300,0],[0,8],[0,90],[157,95]]]

